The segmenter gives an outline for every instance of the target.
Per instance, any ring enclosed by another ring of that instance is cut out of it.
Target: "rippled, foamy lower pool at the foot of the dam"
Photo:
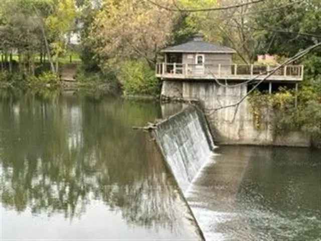
[[[207,240],[321,240],[321,152],[220,147],[187,201]]]

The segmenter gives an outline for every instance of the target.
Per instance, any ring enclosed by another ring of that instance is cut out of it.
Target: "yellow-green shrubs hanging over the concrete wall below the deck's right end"
[[[303,131],[313,143],[321,143],[321,92],[314,88],[302,87],[297,93],[284,88],[274,94],[254,91],[249,102],[257,129],[262,129],[269,117],[274,136]]]

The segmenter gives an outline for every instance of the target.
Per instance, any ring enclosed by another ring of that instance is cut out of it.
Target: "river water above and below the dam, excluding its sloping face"
[[[132,130],[161,117],[157,102],[0,96],[0,239],[320,240],[321,152],[219,147],[182,192]]]

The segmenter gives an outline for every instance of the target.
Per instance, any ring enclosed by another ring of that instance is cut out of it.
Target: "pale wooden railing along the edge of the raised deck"
[[[267,74],[277,66],[273,65],[244,65],[244,64],[182,64],[157,63],[156,76],[180,78],[250,78]],[[285,65],[279,68],[271,77],[297,80],[303,79],[303,65]]]

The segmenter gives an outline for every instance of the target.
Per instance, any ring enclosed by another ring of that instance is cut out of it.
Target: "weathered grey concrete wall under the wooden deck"
[[[272,113],[269,111],[271,110],[264,111],[266,117],[261,121],[261,128],[257,129],[247,99],[239,105],[237,112],[235,107],[211,111],[211,109],[238,102],[246,93],[246,85],[229,88],[205,81],[167,80],[163,82],[162,89],[162,97],[165,98],[187,100],[197,98],[202,102],[204,108],[209,110],[207,119],[216,144],[310,146],[310,138],[301,132],[290,132],[286,135],[275,136],[270,120]],[[167,111],[167,108],[169,107],[162,107],[164,111]]]

